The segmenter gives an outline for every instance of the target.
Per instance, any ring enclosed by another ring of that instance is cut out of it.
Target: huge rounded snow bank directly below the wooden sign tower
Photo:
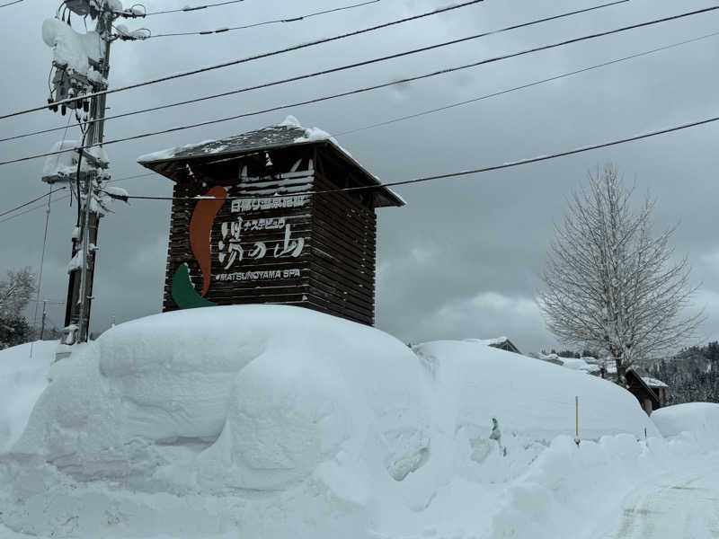
[[[155,474],[174,490],[277,490],[341,451],[401,481],[428,439],[416,364],[381,331],[305,309],[155,315],[56,364],[13,453],[138,488]]]

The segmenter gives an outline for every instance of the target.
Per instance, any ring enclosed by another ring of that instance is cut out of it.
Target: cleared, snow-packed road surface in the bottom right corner
[[[595,539],[719,539],[719,458],[627,496]]]

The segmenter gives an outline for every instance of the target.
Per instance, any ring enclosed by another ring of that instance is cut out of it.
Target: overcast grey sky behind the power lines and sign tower
[[[205,30],[352,3],[246,0],[200,12],[156,15],[127,25],[130,29],[146,26],[154,33]],[[112,94],[109,113],[262,84],[601,3],[486,0],[348,40]],[[188,2],[146,0],[144,4],[152,12]],[[445,4],[381,0],[302,22],[210,36],[116,42],[111,51],[111,86],[280,49]],[[709,5],[695,0],[632,0],[340,74],[108,121],[106,138],[340,93]],[[58,2],[26,0],[2,8],[5,75],[0,113],[36,106],[47,99],[52,52],[41,40],[40,26],[44,18],[54,15],[57,6]],[[136,163],[138,155],[262,128],[279,123],[288,113],[306,127],[342,133],[696,38],[719,30],[718,26],[719,13],[707,13],[373,93],[112,145],[107,151],[113,177],[122,178],[146,172]],[[75,29],[84,29],[82,20],[75,19]],[[551,154],[702,119],[717,114],[718,45],[719,37],[701,40],[338,139],[369,171],[384,181],[398,181]],[[47,110],[0,120],[0,137],[66,121]],[[76,137],[77,131],[71,128],[68,137]],[[585,181],[589,168],[611,161],[627,181],[635,182],[639,198],[649,191],[657,199],[654,221],[658,229],[679,222],[674,236],[677,252],[688,255],[693,278],[702,283],[696,305],[697,309],[706,306],[707,318],[700,341],[718,338],[717,135],[719,126],[710,124],[545,163],[399,188],[408,205],[378,212],[378,327],[415,342],[506,335],[523,351],[556,346],[534,300],[541,287],[538,276],[547,245],[554,224],[563,218],[566,197]],[[62,132],[56,132],[0,143],[0,160],[49,151],[61,137]],[[48,186],[40,182],[42,164],[40,159],[0,167],[0,212],[47,191]],[[172,183],[161,176],[118,185],[133,195],[166,196],[172,190]],[[112,317],[121,322],[160,310],[169,208],[169,202],[136,200],[102,220],[93,330],[106,328]],[[67,200],[52,205],[43,297],[62,301],[67,294],[65,269],[74,215],[75,208],[68,208]],[[0,223],[2,274],[9,268],[39,266],[44,217],[42,210],[36,210]],[[51,307],[49,314],[52,323],[63,322],[63,307]]]

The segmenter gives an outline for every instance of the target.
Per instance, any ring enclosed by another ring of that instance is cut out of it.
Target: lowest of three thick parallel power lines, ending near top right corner
[[[571,40],[559,41],[559,42],[557,42],[557,43],[553,43],[553,44],[550,44],[550,45],[542,45],[542,46],[539,46],[539,47],[534,47],[534,48],[532,48],[532,49],[525,49],[525,50],[521,50],[521,51],[519,51],[519,52],[513,52],[513,53],[505,54],[505,55],[502,55],[502,56],[499,56],[499,57],[486,58],[486,59],[484,59],[484,60],[480,60],[480,61],[477,61],[477,62],[473,62],[473,63],[471,63],[471,64],[466,64],[466,65],[464,65],[464,66],[448,67],[448,68],[441,69],[441,70],[439,70],[439,71],[435,71],[435,72],[432,72],[432,73],[429,73],[429,74],[417,75],[417,76],[414,76],[414,77],[408,77],[408,78],[401,79],[401,80],[398,80],[398,81],[393,81],[393,82],[390,82],[390,83],[377,84],[377,85],[374,85],[374,86],[368,86],[368,87],[365,87],[365,88],[359,88],[359,89],[357,89],[357,90],[351,90],[351,91],[345,92],[345,93],[338,93],[338,94],[334,94],[334,95],[330,95],[330,96],[324,96],[324,97],[320,97],[320,98],[315,98],[315,99],[312,99],[312,100],[307,100],[307,101],[305,101],[305,102],[297,102],[297,103],[292,103],[292,104],[288,104],[288,105],[280,105],[280,106],[277,106],[277,107],[273,107],[273,108],[271,108],[271,109],[257,110],[257,111],[253,111],[253,112],[246,112],[246,113],[244,113],[244,114],[236,114],[236,115],[234,115],[234,116],[229,116],[229,117],[219,118],[219,119],[210,119],[210,120],[205,120],[205,121],[201,121],[201,122],[198,122],[198,123],[189,124],[189,125],[185,125],[185,126],[180,126],[180,127],[175,127],[175,128],[167,128],[167,129],[162,129],[162,130],[159,130],[159,131],[151,131],[151,132],[148,132],[148,133],[141,133],[141,134],[139,134],[139,135],[134,135],[134,136],[131,136],[131,137],[115,138],[115,139],[112,139],[112,140],[107,140],[107,141],[105,141],[103,144],[104,144],[104,145],[110,145],[110,144],[117,144],[117,143],[120,143],[120,142],[127,142],[127,141],[129,141],[129,140],[137,140],[137,139],[139,139],[139,138],[155,137],[155,136],[157,136],[157,135],[164,135],[164,134],[167,134],[167,133],[173,133],[173,132],[176,132],[176,131],[182,131],[182,130],[184,130],[184,129],[199,128],[199,127],[204,127],[204,126],[208,126],[208,125],[211,125],[211,124],[216,124],[216,123],[221,123],[221,122],[230,121],[230,120],[233,120],[233,119],[246,118],[246,117],[248,117],[248,116],[254,116],[254,115],[257,115],[257,114],[262,114],[262,113],[265,113],[265,112],[271,112],[271,111],[274,111],[274,110],[288,109],[288,108],[296,107],[296,106],[300,106],[300,105],[306,105],[306,104],[315,103],[315,102],[323,102],[323,101],[327,101],[327,100],[330,100],[330,99],[335,99],[335,98],[338,98],[338,97],[343,97],[343,96],[347,96],[347,95],[351,95],[351,94],[364,93],[364,92],[368,92],[368,91],[371,91],[371,90],[376,90],[377,88],[383,88],[383,87],[391,86],[391,85],[394,85],[394,84],[402,84],[402,83],[410,82],[410,81],[413,81],[413,80],[419,80],[419,79],[422,79],[422,78],[428,78],[428,77],[436,76],[436,75],[444,75],[444,74],[447,74],[447,73],[452,73],[452,72],[454,72],[454,71],[458,71],[458,70],[461,70],[461,69],[466,69],[466,68],[469,68],[469,67],[482,66],[482,65],[484,65],[484,64],[489,64],[489,63],[492,63],[492,62],[497,62],[497,61],[504,60],[504,59],[508,59],[508,58],[511,58],[511,57],[519,57],[519,56],[527,55],[527,54],[534,53],[534,52],[538,52],[538,51],[542,51],[542,50],[555,49],[555,48],[557,48],[557,47],[563,47],[563,46],[565,46],[565,45],[569,45],[569,44],[576,43],[576,42],[579,42],[579,41],[592,40],[592,39],[596,39],[596,38],[599,38],[599,37],[605,37],[605,36],[608,36],[608,35],[610,35],[610,34],[618,33],[618,32],[621,32],[621,31],[633,30],[633,29],[635,29],[635,28],[640,28],[640,27],[648,26],[648,25],[650,25],[650,24],[657,24],[657,23],[660,23],[660,22],[667,22],[667,21],[679,19],[679,18],[681,18],[681,17],[687,17],[687,16],[689,16],[689,15],[693,15],[693,14],[697,14],[697,13],[705,13],[706,11],[714,11],[714,10],[716,10],[716,9],[719,9],[719,5],[714,6],[714,7],[711,7],[711,8],[706,8],[706,9],[703,9],[703,10],[698,10],[698,11],[695,11],[695,12],[683,13],[683,14],[680,14],[680,15],[672,15],[672,16],[670,16],[670,17],[665,17],[665,18],[657,19],[657,20],[650,21],[650,22],[640,22],[640,23],[633,24],[633,25],[630,25],[630,26],[624,26],[624,27],[622,27],[622,28],[618,28],[618,29],[615,29],[615,30],[602,31],[602,32],[590,34],[590,35],[587,35],[587,36],[582,36],[582,37],[580,37],[580,38],[573,38],[573,39],[571,39]],[[90,147],[93,147],[93,146],[99,146],[99,145],[78,146],[77,148],[75,148],[75,150],[87,149],[87,148],[90,148]],[[47,157],[47,156],[49,156],[49,155],[57,155],[57,154],[59,154],[59,153],[62,153],[62,152],[61,152],[61,151],[58,151],[58,152],[48,152],[48,153],[45,153],[45,154],[37,154],[37,155],[29,155],[29,156],[25,156],[25,157],[19,157],[19,158],[12,159],[12,160],[8,160],[8,161],[2,161],[2,162],[0,162],[0,165],[10,164],[10,163],[20,163],[20,162],[23,162],[23,161],[29,161],[29,160],[31,160],[31,159],[37,159],[37,158],[40,158],[40,157]]]

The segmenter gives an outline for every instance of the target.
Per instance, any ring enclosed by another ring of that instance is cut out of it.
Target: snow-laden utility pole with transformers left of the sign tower
[[[70,26],[71,14],[89,16],[96,20],[94,31],[75,32]],[[66,21],[67,14],[67,21]],[[65,314],[64,344],[84,342],[89,334],[90,307],[93,300],[93,277],[97,232],[100,217],[110,203],[108,193],[127,196],[118,188],[103,188],[110,178],[105,170],[109,163],[102,146],[83,149],[82,146],[102,145],[106,95],[88,100],[55,104],[84,94],[107,90],[110,75],[110,45],[113,40],[141,40],[148,31],[129,32],[118,25],[113,34],[113,22],[120,17],[144,16],[138,10],[125,10],[120,0],[66,0],[54,19],[42,25],[42,37],[53,48],[55,76],[49,98],[49,109],[67,112],[75,110],[75,118],[84,132],[81,141],[63,140],[55,150],[67,152],[50,156],[43,170],[43,181],[69,183],[78,200],[77,225],[72,235],[72,259],[68,265],[69,284]]]

